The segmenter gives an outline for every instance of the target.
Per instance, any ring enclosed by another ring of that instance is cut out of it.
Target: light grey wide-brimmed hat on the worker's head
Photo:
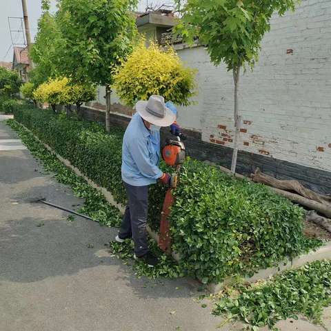
[[[171,126],[176,121],[176,115],[165,106],[161,95],[152,95],[148,101],[138,101],[136,110],[143,119],[155,126]]]

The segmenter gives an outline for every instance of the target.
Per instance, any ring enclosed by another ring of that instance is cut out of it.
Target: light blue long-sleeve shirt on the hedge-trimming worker
[[[159,169],[160,133],[146,128],[138,113],[132,117],[123,138],[122,179],[132,186],[157,182]]]

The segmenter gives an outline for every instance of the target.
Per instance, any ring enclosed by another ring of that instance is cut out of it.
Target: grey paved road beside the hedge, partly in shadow
[[[137,279],[104,245],[116,230],[79,217],[69,222],[65,212],[24,202],[82,203],[44,174],[17,139],[0,121],[0,331],[242,330],[217,329],[221,319],[194,301],[192,281]],[[284,331],[323,330],[281,323]]]

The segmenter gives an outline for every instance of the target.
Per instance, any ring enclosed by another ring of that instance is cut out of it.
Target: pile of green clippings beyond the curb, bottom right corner
[[[297,270],[283,272],[270,281],[239,284],[220,294],[213,314],[241,320],[258,331],[277,321],[298,319],[298,314],[322,323],[323,307],[331,304],[331,261],[315,261]]]

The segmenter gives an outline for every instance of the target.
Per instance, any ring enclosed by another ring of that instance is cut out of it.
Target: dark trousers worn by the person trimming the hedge
[[[148,252],[147,216],[148,216],[148,185],[132,186],[124,183],[128,205],[124,213],[119,237],[133,238],[134,254],[142,257]]]

